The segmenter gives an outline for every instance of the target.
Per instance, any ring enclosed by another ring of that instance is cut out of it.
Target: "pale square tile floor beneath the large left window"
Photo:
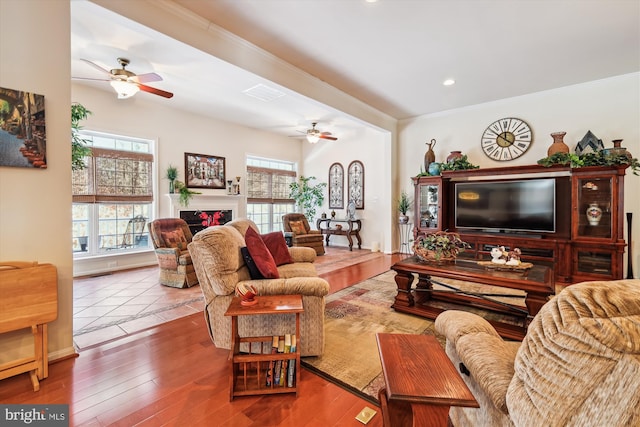
[[[200,286],[158,282],[158,267],[73,281],[73,340],[78,351],[203,310]]]

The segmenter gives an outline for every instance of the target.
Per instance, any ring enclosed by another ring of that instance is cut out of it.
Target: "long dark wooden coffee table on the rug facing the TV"
[[[396,311],[435,319],[447,309],[443,303],[456,304],[456,308],[462,306],[461,309],[471,306],[491,310],[510,316],[520,323],[487,319],[500,335],[510,339],[524,338],[533,316],[555,294],[553,272],[541,265],[534,265],[526,271],[512,272],[487,269],[471,260],[457,259],[454,262],[436,263],[421,261],[412,256],[395,263],[391,269],[396,272],[395,281],[398,286],[398,294],[392,305]],[[418,276],[415,288],[412,287],[414,274]],[[506,295],[465,292],[453,286],[446,291],[434,290],[432,281],[437,281],[439,277],[524,291],[526,309],[494,298]]]

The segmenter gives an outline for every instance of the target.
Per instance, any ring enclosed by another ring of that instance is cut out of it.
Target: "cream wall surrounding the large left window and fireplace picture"
[[[297,162],[302,166],[302,141],[277,136],[171,108],[171,100],[164,104],[149,102],[140,93],[133,98],[117,99],[109,85],[107,91],[72,85],[72,100],[80,102],[93,114],[82,127],[86,130],[109,132],[157,141],[156,176],[158,179],[157,217],[172,216],[169,199],[169,183],[162,179],[169,164],[178,168],[178,179],[184,182],[184,153],[210,154],[225,158],[227,177],[240,176],[241,192],[246,183],[246,156],[255,155]],[[224,195],[226,190],[197,189],[202,194]],[[156,264],[152,251],[135,254],[111,255],[78,259],[74,275],[81,276],[115,269],[126,269]],[[110,264],[110,265],[108,265]]]

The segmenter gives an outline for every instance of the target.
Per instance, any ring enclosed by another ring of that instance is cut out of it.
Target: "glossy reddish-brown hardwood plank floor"
[[[399,255],[329,272],[331,292],[389,269]],[[69,404],[71,426],[361,426],[380,408],[303,369],[298,396],[229,402],[228,351],[216,348],[202,313],[82,351],[51,364],[34,392],[26,374],[0,381],[0,403]]]

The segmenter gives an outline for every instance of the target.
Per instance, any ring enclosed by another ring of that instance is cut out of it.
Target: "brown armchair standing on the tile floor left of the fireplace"
[[[187,245],[193,236],[180,218],[162,218],[149,223],[149,235],[160,265],[160,283],[173,288],[198,284]]]

